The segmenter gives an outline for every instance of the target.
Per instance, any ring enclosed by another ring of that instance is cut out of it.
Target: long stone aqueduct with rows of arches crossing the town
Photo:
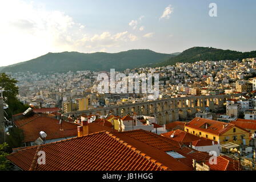
[[[156,117],[157,122],[163,125],[173,121],[189,119],[198,111],[205,111],[205,107],[209,107],[209,109],[213,111],[221,109],[224,106],[225,101],[230,98],[234,98],[234,95],[223,94],[217,96],[177,97],[165,100],[103,107],[100,109],[73,111],[65,113],[64,115],[126,115],[135,112],[137,115],[149,115],[151,117]]]

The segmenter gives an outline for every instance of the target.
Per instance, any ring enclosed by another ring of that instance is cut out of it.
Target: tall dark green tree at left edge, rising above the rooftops
[[[0,87],[5,89],[3,97],[7,97],[7,101],[5,102],[9,105],[9,108],[6,110],[7,118],[10,118],[13,114],[22,113],[29,108],[28,105],[23,105],[17,99],[19,93],[19,88],[16,86],[17,82],[17,80],[6,75],[6,73],[0,74]]]

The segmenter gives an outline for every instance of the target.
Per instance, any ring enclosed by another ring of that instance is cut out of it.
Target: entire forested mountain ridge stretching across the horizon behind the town
[[[256,57],[256,51],[239,52],[212,47],[192,47],[179,53],[158,53],[150,49],[131,49],[118,53],[49,52],[29,61],[0,67],[0,72],[68,72],[68,71],[123,71],[127,68],[164,67],[175,63],[195,61],[241,60]]]

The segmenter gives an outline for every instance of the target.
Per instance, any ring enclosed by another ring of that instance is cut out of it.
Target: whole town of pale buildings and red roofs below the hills
[[[158,73],[156,100],[99,93],[99,72],[7,73],[18,80],[19,101],[30,107],[6,125],[6,135],[13,128],[24,134],[6,159],[25,171],[255,170],[255,63],[197,61],[124,71]],[[35,155],[42,148],[46,165]]]

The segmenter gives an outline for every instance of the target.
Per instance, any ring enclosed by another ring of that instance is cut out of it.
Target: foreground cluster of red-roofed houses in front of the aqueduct
[[[22,129],[25,138],[7,159],[22,170],[224,171],[245,169],[240,156],[251,154],[255,159],[254,120],[226,123],[196,117],[161,126],[145,115],[64,118],[58,108],[35,109],[13,118],[13,127]],[[46,152],[45,165],[35,163],[38,150]],[[217,164],[211,163],[211,156]],[[246,159],[253,168],[254,160]]]

